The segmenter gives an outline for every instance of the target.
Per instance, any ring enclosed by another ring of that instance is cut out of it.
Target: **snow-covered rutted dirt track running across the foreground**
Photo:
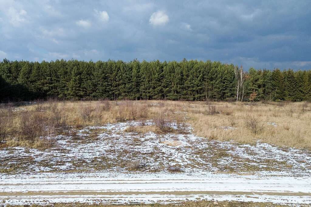
[[[311,180],[217,173],[39,173],[0,179],[4,204],[168,203],[186,199],[310,204]]]

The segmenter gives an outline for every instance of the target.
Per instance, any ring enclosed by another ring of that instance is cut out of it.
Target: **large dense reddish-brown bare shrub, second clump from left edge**
[[[44,117],[42,114],[24,112],[21,114],[20,133],[31,143],[43,135]]]

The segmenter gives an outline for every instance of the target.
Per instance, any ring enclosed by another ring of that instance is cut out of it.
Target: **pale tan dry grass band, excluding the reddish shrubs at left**
[[[127,131],[163,133],[172,122],[185,129],[190,123],[198,136],[217,140],[234,140],[254,143],[257,140],[279,146],[294,146],[311,149],[311,104],[308,102],[282,103],[229,103],[229,102],[189,102],[189,101],[56,101],[44,102],[38,111],[34,106],[23,106],[25,110],[14,112],[7,135],[18,137],[22,114],[31,111],[39,114],[45,123],[54,127],[65,125],[101,125],[118,121],[140,120],[141,126],[130,127]],[[23,112],[24,111],[24,112]],[[31,117],[34,115],[31,115]],[[249,130],[249,119],[260,120],[260,133]],[[154,120],[154,125],[144,124],[144,120]],[[30,120],[31,121],[31,120]],[[269,123],[276,123],[273,126]],[[224,129],[224,127],[235,129]],[[8,139],[8,138],[7,138]],[[13,141],[10,141],[13,142]]]

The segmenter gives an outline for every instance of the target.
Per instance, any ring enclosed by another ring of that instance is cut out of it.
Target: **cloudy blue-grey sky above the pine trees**
[[[0,60],[311,69],[311,1],[0,0]]]

